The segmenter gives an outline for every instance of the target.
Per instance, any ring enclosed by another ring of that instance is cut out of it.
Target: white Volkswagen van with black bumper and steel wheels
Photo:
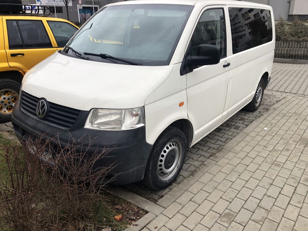
[[[109,4],[23,78],[16,135],[113,147],[115,184],[162,189],[192,147],[234,113],[260,107],[270,81],[270,6],[222,0]],[[56,153],[54,153],[56,155]]]

